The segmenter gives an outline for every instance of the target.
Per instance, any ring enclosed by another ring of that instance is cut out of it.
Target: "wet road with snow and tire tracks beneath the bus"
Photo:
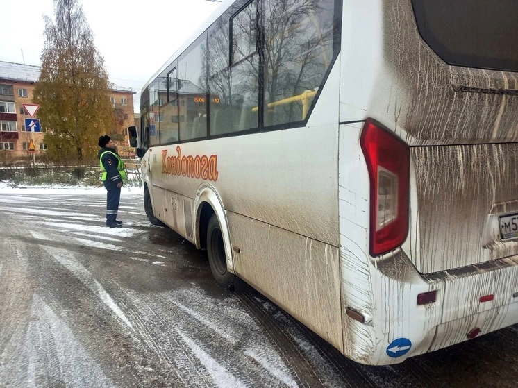
[[[518,327],[390,367],[346,360],[123,189],[0,188],[0,387],[517,387]]]

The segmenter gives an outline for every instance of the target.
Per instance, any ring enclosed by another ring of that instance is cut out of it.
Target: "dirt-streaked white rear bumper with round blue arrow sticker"
[[[357,362],[397,364],[467,341],[475,328],[480,336],[518,323],[518,256],[421,276],[399,251],[369,272],[374,300],[362,311],[365,323],[344,316],[344,349]],[[431,290],[436,301],[417,305],[417,296]],[[481,302],[487,295],[494,298]]]

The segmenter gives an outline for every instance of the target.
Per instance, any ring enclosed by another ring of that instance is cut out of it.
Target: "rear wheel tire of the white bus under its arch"
[[[210,271],[219,287],[233,289],[234,274],[226,267],[225,245],[222,229],[217,221],[216,214],[212,214],[207,227],[207,253]]]

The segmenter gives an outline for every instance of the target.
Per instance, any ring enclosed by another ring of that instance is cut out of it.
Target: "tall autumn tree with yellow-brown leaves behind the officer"
[[[50,160],[91,162],[97,140],[114,123],[108,72],[77,0],[54,0],[55,21],[44,16],[42,71],[34,90],[47,130]]]

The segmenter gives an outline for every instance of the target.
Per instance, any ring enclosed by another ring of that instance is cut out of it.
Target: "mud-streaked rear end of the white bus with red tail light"
[[[340,267],[353,360],[402,362],[518,322],[517,20],[514,0],[344,3]]]

